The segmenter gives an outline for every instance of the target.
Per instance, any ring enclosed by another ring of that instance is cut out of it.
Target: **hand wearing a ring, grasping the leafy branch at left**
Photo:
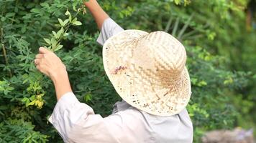
[[[46,74],[50,79],[55,77],[58,73],[66,71],[63,62],[52,51],[40,47],[39,52],[40,54],[35,56],[35,65],[39,71]]]

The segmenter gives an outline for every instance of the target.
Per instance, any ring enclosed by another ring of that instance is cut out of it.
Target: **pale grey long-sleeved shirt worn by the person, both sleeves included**
[[[123,30],[112,19],[106,19],[97,41],[103,45],[110,36]],[[113,113],[103,118],[79,102],[73,92],[68,92],[58,100],[49,121],[64,142],[190,143],[193,140],[193,126],[186,109],[170,117],[160,117],[136,109],[124,100],[113,107]]]

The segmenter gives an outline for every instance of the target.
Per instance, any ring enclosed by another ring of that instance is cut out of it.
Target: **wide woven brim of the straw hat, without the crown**
[[[169,117],[178,114],[188,104],[190,77],[185,66],[175,84],[166,87],[157,74],[134,64],[132,49],[136,48],[135,41],[147,35],[145,31],[125,30],[111,36],[103,47],[104,69],[125,102],[144,112]]]

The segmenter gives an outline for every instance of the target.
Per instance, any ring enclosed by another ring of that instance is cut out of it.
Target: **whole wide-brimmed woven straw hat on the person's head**
[[[114,89],[132,107],[168,117],[189,102],[185,48],[164,31],[125,30],[111,36],[103,61]]]

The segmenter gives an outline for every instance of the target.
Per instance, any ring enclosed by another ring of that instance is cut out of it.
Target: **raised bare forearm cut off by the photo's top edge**
[[[84,3],[86,7],[91,11],[91,14],[93,15],[98,28],[101,30],[101,26],[105,19],[109,18],[108,14],[101,9],[101,6],[98,4],[96,0],[89,0]]]

